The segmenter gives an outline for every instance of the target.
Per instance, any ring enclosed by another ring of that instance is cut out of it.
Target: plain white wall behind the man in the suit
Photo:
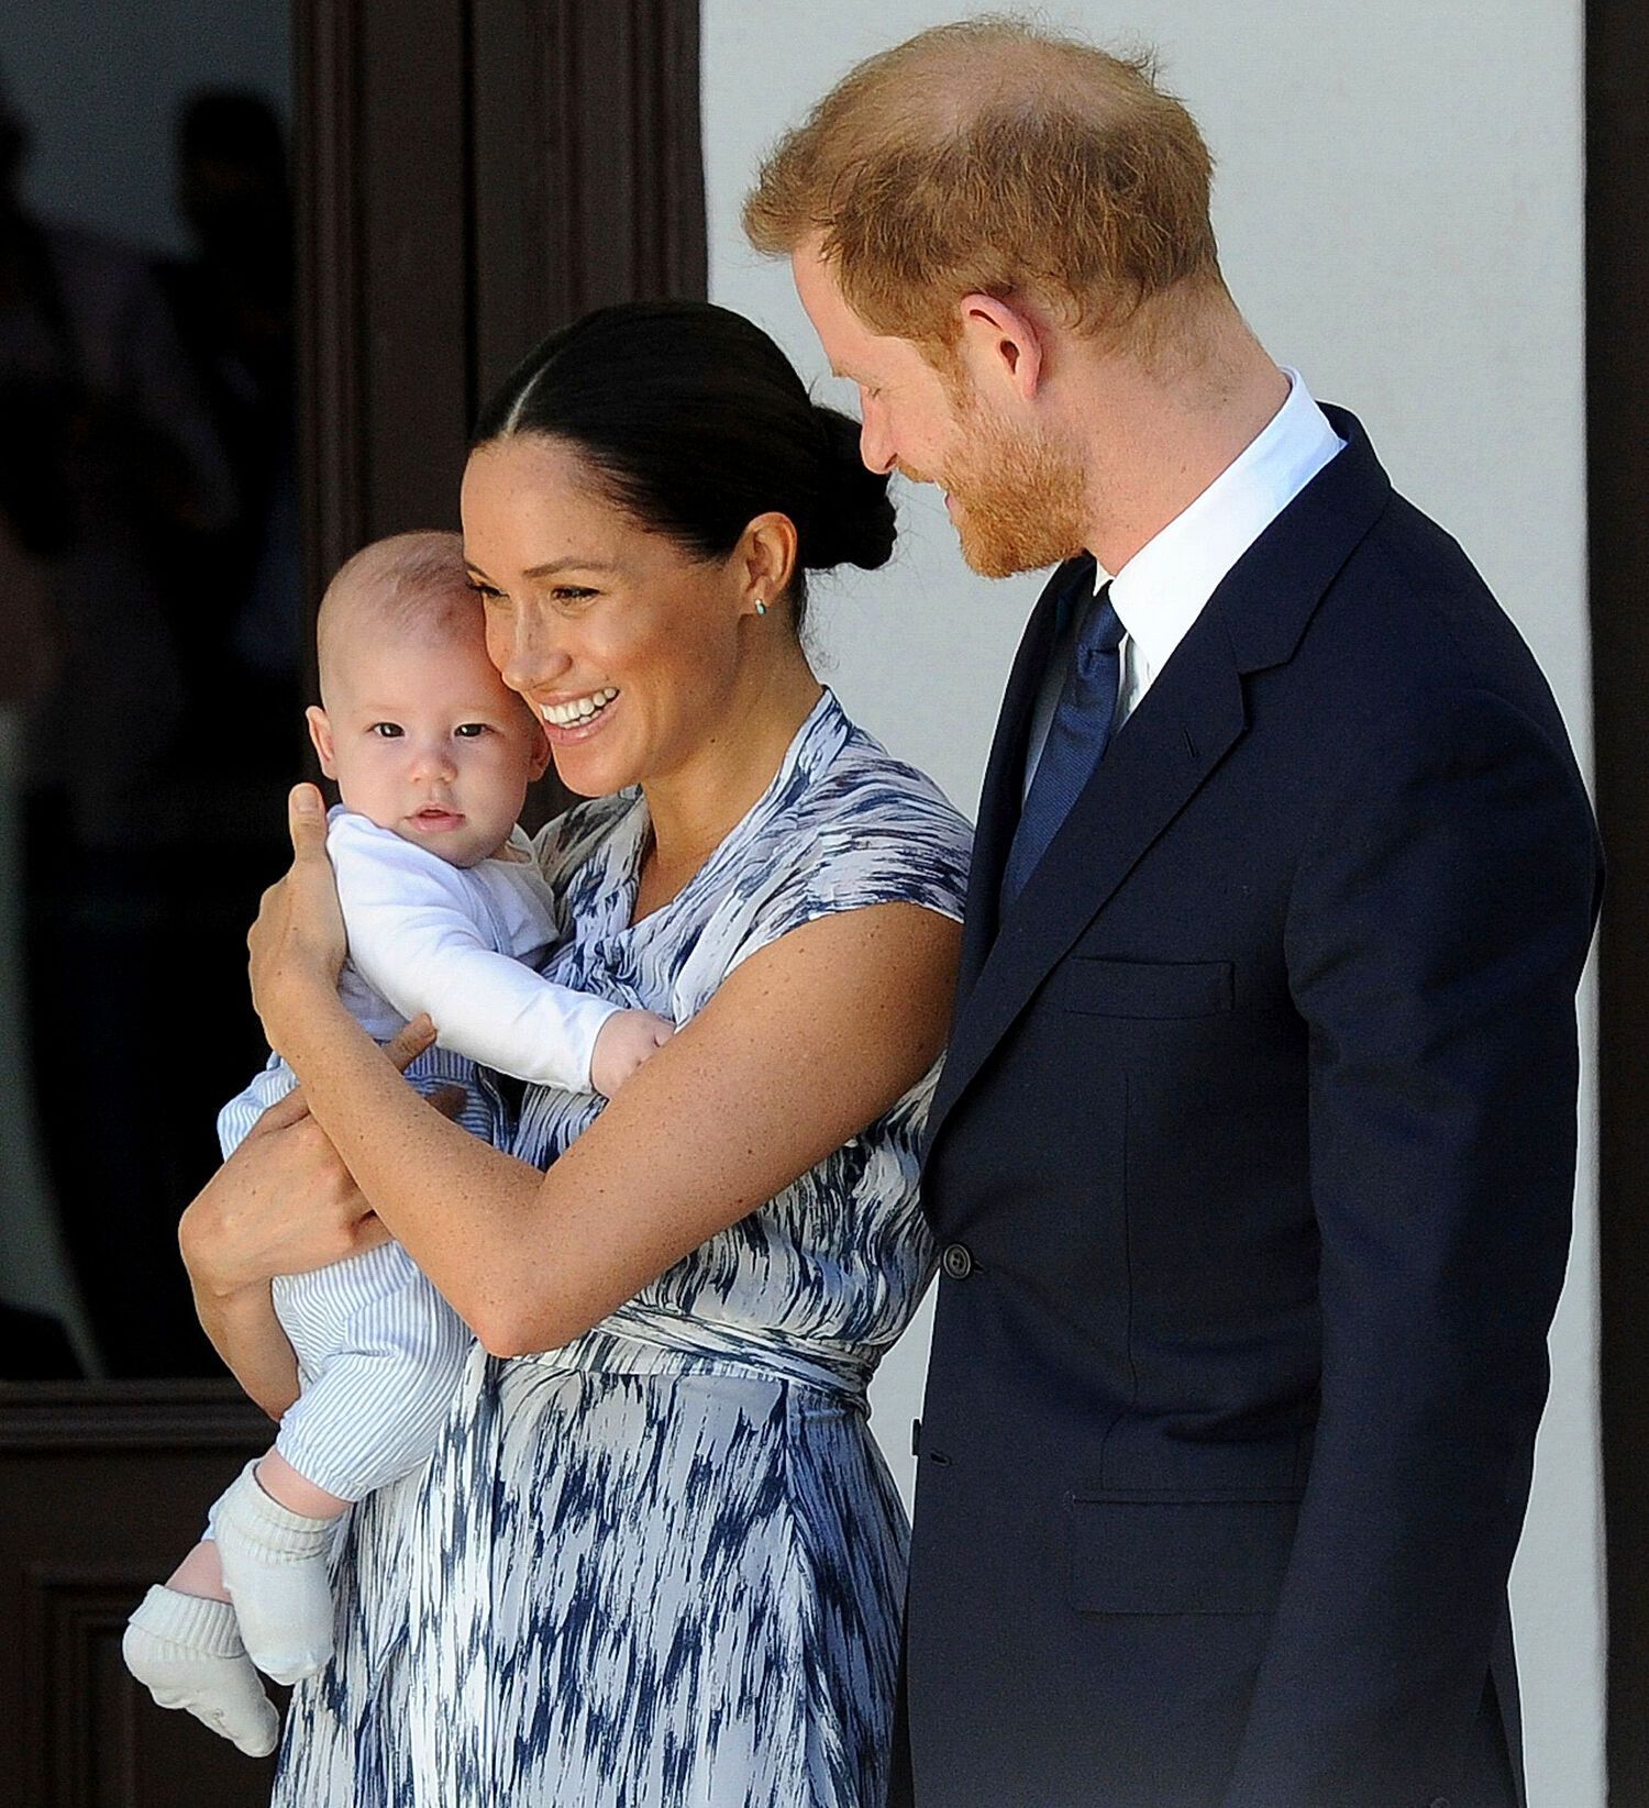
[[[761,152],[857,58],[964,4],[705,0],[711,293],[767,325],[852,407],[779,266],[738,212]],[[1589,768],[1582,398],[1582,0],[1324,7],[1132,0],[1043,9],[1154,45],[1219,159],[1215,222],[1249,320],[1454,532],[1535,649]],[[931,490],[900,499],[882,573],[821,584],[823,676],[848,712],[973,812],[1034,579],[962,564]],[[1582,1038],[1595,1045],[1588,989]],[[1569,1287],[1513,1575],[1535,1808],[1600,1808],[1602,1539],[1597,1143],[1582,1099]],[[926,1314],[884,1365],[877,1430],[909,1488]]]

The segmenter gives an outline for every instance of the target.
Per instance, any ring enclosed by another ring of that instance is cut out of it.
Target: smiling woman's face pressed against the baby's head
[[[740,584],[608,503],[579,454],[514,434],[470,454],[486,651],[584,797],[667,777],[732,729]]]

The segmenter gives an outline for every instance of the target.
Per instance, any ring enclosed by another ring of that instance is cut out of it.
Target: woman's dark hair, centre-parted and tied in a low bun
[[[859,423],[814,403],[790,360],[709,302],[600,307],[537,345],[481,410],[472,447],[566,441],[611,501],[700,559],[725,559],[756,515],[796,526],[805,571],[875,570],[893,551],[888,479],[859,459]]]

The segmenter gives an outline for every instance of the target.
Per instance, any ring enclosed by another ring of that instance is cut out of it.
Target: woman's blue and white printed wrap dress
[[[828,691],[631,924],[645,839],[635,792],[544,830],[546,973],[676,1023],[817,917],[962,915],[966,821]],[[933,1267],[935,1074],[584,1336],[472,1352],[429,1468],[351,1513],[278,1808],[881,1808],[908,1528],[864,1387]],[[548,1166],[600,1105],[530,1088],[515,1152]]]

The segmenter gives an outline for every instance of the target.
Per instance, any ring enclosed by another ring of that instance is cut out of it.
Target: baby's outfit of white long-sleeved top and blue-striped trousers
[[[349,937],[338,980],[349,1011],[380,1041],[419,1011],[439,1032],[409,1069],[414,1085],[425,1092],[461,1085],[463,1121],[483,1137],[492,1114],[476,1090],[476,1063],[589,1088],[597,1032],[618,1007],[533,971],[555,942],[555,906],[519,830],[512,857],[459,868],[335,808],[327,853]],[[295,1085],[291,1069],[271,1056],[219,1114],[224,1155]],[[423,1463],[474,1338],[407,1251],[391,1242],[309,1275],[284,1275],[273,1296],[302,1383],[275,1439],[287,1463],[344,1501]]]

